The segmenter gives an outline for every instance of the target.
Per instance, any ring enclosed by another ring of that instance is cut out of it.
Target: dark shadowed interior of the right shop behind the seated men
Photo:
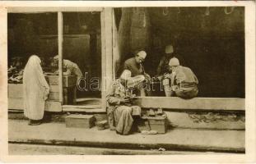
[[[123,24],[125,30],[131,28],[128,25],[137,16],[136,10],[125,8],[122,14],[120,9],[115,11],[119,34],[123,34]],[[172,43],[175,52],[184,57],[184,66],[198,76],[199,97],[244,98],[244,7],[148,7],[141,12],[146,21],[150,18],[150,32],[147,26],[142,27],[150,36],[150,45],[141,47],[147,51],[144,65],[150,75],[156,75],[165,45]],[[126,40],[121,42],[127,45],[125,51],[121,49],[123,61],[133,57],[129,39],[137,35],[140,43],[139,35],[145,33],[130,32],[123,37]]]

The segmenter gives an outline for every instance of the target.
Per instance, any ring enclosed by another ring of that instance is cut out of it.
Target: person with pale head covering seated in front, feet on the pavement
[[[131,102],[133,95],[127,85],[131,74],[131,71],[124,70],[120,78],[110,86],[106,96],[109,103],[107,110],[109,127],[118,134],[129,134],[133,125],[133,114],[141,115],[141,108],[132,106]]]

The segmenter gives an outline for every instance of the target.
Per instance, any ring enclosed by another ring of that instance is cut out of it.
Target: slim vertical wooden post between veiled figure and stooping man
[[[63,102],[63,13],[58,11],[58,89],[59,102]]]

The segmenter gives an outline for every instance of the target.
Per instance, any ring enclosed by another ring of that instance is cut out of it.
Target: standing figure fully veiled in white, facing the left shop
[[[49,95],[40,57],[32,55],[23,74],[24,115],[30,119],[29,125],[40,125],[44,116],[44,103]]]

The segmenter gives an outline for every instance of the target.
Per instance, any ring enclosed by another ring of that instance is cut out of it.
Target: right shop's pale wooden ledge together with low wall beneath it
[[[133,104],[143,111],[163,108],[171,126],[176,128],[245,130],[244,98],[137,97]]]

